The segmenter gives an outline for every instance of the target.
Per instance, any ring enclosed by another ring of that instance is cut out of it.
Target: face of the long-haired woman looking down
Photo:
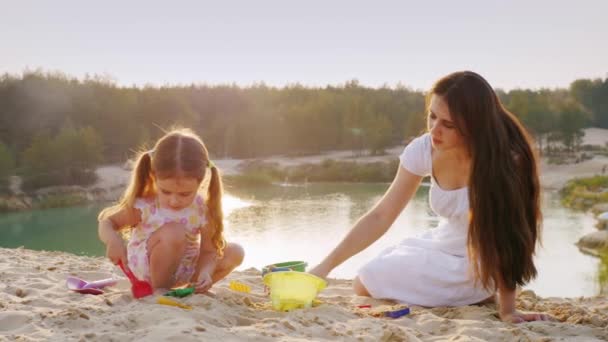
[[[433,148],[437,150],[465,148],[464,137],[452,120],[447,103],[439,95],[431,96],[427,128],[431,133]]]

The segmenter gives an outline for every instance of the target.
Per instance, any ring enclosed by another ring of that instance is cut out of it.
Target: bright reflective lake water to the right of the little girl
[[[251,206],[228,217],[228,235],[247,251],[244,267],[304,259],[321,261],[347,234],[351,225],[369,210],[386,184],[311,184],[305,189],[265,188],[250,196]],[[365,251],[332,272],[333,277],[352,278],[359,267],[383,249],[402,239],[431,229],[437,218],[428,207],[426,188],[421,188],[392,228]],[[593,218],[560,206],[557,195],[544,199],[543,246],[537,253],[538,278],[527,286],[543,296],[590,296],[599,291],[598,260],[574,245],[592,232]],[[572,279],[566,285],[565,277]]]

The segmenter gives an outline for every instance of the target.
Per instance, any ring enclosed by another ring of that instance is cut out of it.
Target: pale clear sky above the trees
[[[0,73],[424,90],[467,69],[504,90],[568,87],[608,77],[606,13],[606,0],[0,0]]]

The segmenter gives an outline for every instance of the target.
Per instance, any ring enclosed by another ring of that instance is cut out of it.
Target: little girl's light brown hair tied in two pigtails
[[[208,209],[209,225],[214,231],[211,241],[221,257],[226,247],[222,178],[218,168],[210,162],[205,144],[190,129],[173,129],[156,142],[152,151],[139,152],[129,186],[118,203],[99,213],[98,220],[123,209],[132,209],[137,198],[155,196],[155,177],[159,179],[191,177],[201,184],[205,179],[207,168],[211,170],[211,179],[205,204]]]

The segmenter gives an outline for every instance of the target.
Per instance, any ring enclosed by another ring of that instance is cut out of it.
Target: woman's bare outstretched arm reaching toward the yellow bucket
[[[335,267],[378,240],[410,201],[422,180],[402,166],[376,206],[361,217],[340,244],[309,272],[325,278]]]

